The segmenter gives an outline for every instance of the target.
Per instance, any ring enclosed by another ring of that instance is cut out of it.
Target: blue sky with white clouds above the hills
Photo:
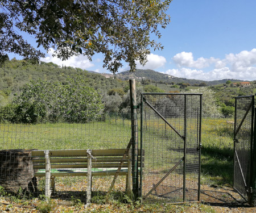
[[[164,49],[152,50],[146,65],[137,63],[137,69],[205,81],[256,80],[255,10],[255,0],[172,0],[167,11],[171,23],[160,29]],[[82,55],[61,61],[52,53],[41,60],[108,73],[100,54],[92,61]],[[124,64],[118,72],[126,70]]]

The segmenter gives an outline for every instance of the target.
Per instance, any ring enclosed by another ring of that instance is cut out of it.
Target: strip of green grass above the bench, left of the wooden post
[[[130,121],[110,119],[86,124],[0,124],[1,149],[126,148]]]

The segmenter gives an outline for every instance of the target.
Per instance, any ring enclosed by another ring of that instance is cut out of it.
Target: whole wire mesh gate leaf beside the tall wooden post
[[[142,93],[142,198],[200,201],[201,94]]]

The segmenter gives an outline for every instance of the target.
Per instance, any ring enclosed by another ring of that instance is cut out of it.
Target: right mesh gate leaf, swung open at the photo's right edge
[[[236,97],[233,187],[249,203],[255,193],[254,111],[253,95]]]

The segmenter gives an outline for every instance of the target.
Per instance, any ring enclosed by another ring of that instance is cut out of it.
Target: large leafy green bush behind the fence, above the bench
[[[44,121],[88,122],[100,118],[101,95],[78,77],[63,85],[47,81],[31,81],[20,95],[1,110],[1,118],[16,123]],[[10,111],[10,112],[9,112]]]

